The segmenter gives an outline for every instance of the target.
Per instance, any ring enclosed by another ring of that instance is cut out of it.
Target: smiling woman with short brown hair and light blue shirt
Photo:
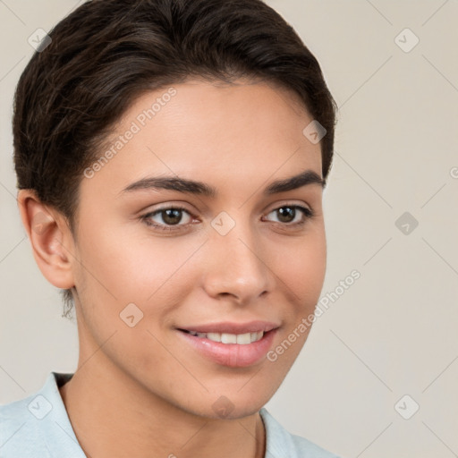
[[[263,407],[323,285],[334,125],[318,62],[259,0],[59,22],[16,90],[14,160],[80,358],[0,408],[2,456],[335,456]]]

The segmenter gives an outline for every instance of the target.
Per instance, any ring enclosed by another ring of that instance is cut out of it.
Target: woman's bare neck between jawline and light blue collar
[[[88,363],[81,364],[81,360]],[[90,360],[80,355],[78,368],[60,393],[87,456],[265,456],[265,430],[259,412],[221,420],[184,411],[141,386],[102,352]]]

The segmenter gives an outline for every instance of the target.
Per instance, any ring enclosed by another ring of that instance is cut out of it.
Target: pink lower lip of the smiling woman
[[[252,344],[221,344],[212,340],[178,331],[200,354],[217,364],[230,368],[246,368],[263,360],[272,345],[276,329],[265,333]]]

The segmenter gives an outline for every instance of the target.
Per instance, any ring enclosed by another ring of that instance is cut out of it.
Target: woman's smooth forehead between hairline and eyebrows
[[[321,175],[320,146],[302,133],[311,121],[298,96],[266,81],[193,80],[157,89],[123,114],[98,152],[109,160],[91,184],[109,181],[119,192],[133,180],[165,174],[219,187],[234,175],[246,191],[254,177],[310,168]]]

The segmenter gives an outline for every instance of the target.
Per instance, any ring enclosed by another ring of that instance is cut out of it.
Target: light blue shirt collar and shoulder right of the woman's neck
[[[305,437],[290,434],[265,409],[259,411],[266,427],[266,457],[288,456],[288,458],[338,458]]]

